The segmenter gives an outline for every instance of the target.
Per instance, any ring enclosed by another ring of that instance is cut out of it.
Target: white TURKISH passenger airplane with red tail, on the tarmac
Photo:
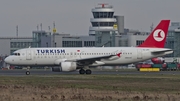
[[[161,20],[148,38],[137,47],[44,47],[13,52],[5,62],[16,66],[52,66],[55,72],[79,70],[91,74],[90,66],[117,66],[145,61],[173,53],[164,48],[170,20]],[[26,71],[29,75],[30,71]]]

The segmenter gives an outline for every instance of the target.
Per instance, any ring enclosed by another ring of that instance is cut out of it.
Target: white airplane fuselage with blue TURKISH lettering
[[[99,62],[103,64],[100,63],[99,65],[124,65],[144,61],[153,57],[164,56],[173,52],[167,51],[164,53],[152,54],[154,51],[165,50],[170,49],[141,47],[26,48],[15,51],[15,53],[19,53],[19,55],[10,55],[5,61],[12,65],[55,66],[58,65],[56,63],[57,60],[77,60],[121,53],[120,57],[116,59],[100,59]],[[93,66],[93,64],[89,66]]]

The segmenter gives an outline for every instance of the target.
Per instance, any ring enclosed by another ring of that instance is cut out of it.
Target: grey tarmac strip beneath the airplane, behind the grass
[[[24,76],[26,70],[0,70],[0,76]],[[30,70],[30,75],[78,75],[79,72],[52,72],[51,70]],[[92,70],[92,75],[180,75],[180,71],[139,72],[136,70]]]

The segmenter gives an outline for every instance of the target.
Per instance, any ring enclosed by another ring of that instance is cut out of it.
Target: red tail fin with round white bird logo
[[[159,25],[151,32],[148,38],[138,47],[164,48],[170,20],[161,20]]]

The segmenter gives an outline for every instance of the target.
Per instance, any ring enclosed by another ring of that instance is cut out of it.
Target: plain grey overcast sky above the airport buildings
[[[162,19],[180,22],[180,0],[1,0],[0,37],[31,37],[42,23],[48,31],[55,22],[58,33],[88,35],[92,8],[99,3],[113,6],[125,18],[125,28],[150,31]],[[40,27],[39,27],[40,29]]]

